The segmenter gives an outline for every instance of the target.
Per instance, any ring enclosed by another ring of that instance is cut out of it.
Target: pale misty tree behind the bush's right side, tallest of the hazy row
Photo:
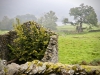
[[[40,17],[38,19],[38,23],[42,24],[44,27],[56,30],[56,22],[57,22],[57,16],[55,15],[55,12],[50,11],[46,13],[43,17]]]

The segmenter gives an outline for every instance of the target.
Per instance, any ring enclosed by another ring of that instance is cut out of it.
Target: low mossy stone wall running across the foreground
[[[100,66],[66,65],[34,60],[18,65],[6,65],[0,60],[0,75],[100,75]]]

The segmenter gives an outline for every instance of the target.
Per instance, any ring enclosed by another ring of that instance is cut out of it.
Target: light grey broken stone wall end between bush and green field
[[[45,55],[42,59],[44,62],[58,62],[58,36],[53,35],[50,37],[50,42],[46,49]]]

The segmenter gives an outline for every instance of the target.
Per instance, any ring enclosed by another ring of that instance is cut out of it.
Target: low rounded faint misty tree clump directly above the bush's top
[[[20,20],[21,23],[27,22],[27,21],[36,21],[37,18],[34,15],[26,14],[26,15],[17,15],[16,18]]]

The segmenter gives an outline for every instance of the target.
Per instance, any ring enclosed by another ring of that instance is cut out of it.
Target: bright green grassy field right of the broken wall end
[[[100,32],[59,36],[58,42],[61,63],[100,60]]]

